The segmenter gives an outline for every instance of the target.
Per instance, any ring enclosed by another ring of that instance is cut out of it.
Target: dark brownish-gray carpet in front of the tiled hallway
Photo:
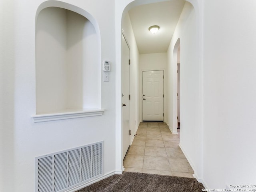
[[[194,178],[123,172],[76,192],[200,192],[204,186]]]

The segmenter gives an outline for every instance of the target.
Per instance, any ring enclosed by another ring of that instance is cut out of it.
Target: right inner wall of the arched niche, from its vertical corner
[[[100,36],[92,23],[67,12],[67,108],[100,108]]]

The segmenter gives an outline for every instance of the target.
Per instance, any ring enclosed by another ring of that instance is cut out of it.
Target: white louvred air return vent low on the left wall
[[[64,192],[103,175],[103,141],[36,157],[36,192]]]

